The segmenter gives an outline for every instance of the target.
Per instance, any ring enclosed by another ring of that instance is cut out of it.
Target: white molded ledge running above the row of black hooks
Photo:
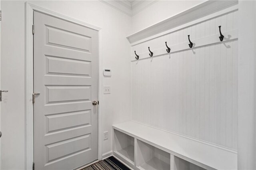
[[[216,15],[221,15],[223,12],[227,13],[230,10],[238,9],[238,0],[230,1],[212,1],[208,0],[199,5],[196,5],[188,10],[185,10],[179,14],[176,14],[166,20],[158,22],[144,30],[136,32],[128,37],[126,37],[131,45],[136,45],[144,41],[156,38],[175,30],[179,30],[188,25],[192,25],[200,20],[206,20],[206,17],[209,19],[210,16],[216,17]],[[223,11],[222,13],[220,13]],[[214,14],[215,13],[215,14]],[[212,15],[214,14],[214,15]],[[200,20],[199,20],[200,19]],[[188,24],[189,23],[189,24]],[[172,30],[173,29],[173,30]]]

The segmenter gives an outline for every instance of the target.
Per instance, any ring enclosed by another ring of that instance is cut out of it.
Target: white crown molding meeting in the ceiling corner
[[[157,1],[158,0],[135,0],[131,3],[128,0],[100,0],[100,2],[103,2],[104,4],[131,17]]]

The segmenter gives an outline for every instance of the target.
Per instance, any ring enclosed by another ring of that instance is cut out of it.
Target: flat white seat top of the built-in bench
[[[202,168],[222,170],[237,169],[236,150],[134,121],[120,123],[112,127],[114,130],[118,130],[136,140],[140,140],[168,152],[171,156],[176,156]],[[172,169],[172,167],[170,169]]]

